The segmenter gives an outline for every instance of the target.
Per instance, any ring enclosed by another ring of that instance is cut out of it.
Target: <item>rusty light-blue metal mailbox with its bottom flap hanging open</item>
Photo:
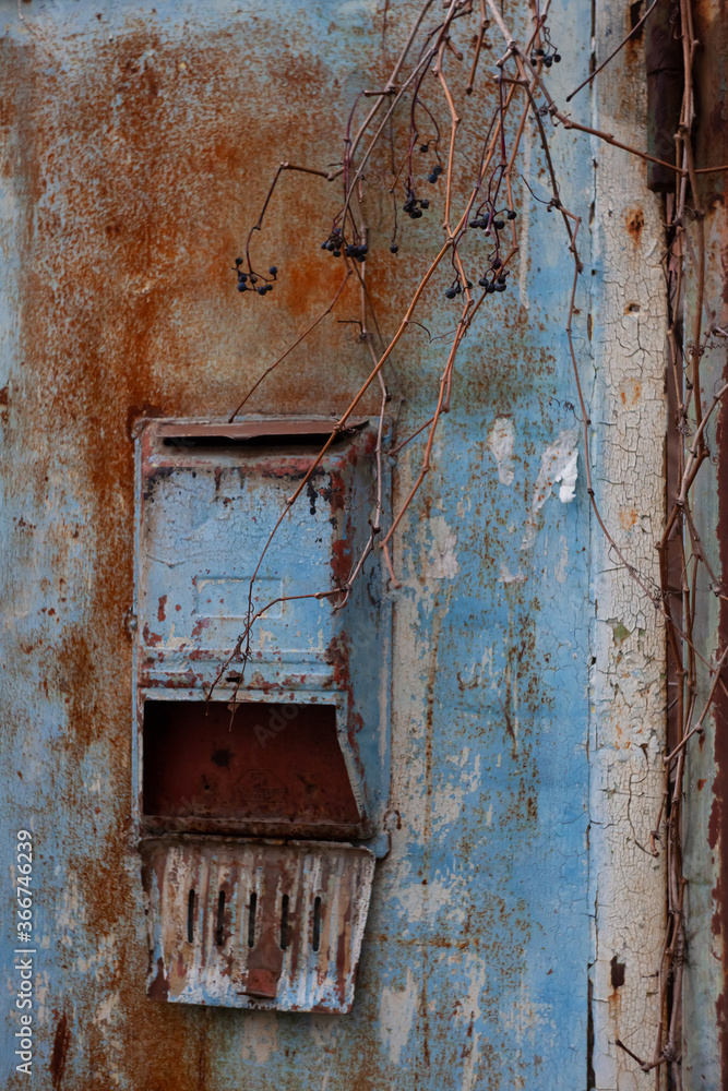
[[[153,998],[351,1007],[386,851],[390,613],[375,559],[344,609],[315,596],[369,538],[374,425],[336,434],[264,553],[334,428],[138,431],[133,795]]]

